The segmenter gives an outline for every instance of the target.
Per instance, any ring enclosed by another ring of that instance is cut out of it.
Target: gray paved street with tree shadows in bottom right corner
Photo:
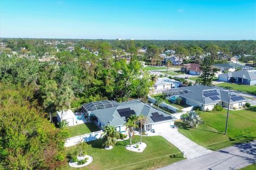
[[[256,163],[256,141],[213,151],[193,159],[181,160],[159,170],[231,170]]]

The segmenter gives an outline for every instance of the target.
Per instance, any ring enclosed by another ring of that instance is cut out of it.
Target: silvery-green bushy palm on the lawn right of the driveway
[[[181,115],[180,119],[182,122],[189,125],[190,128],[196,128],[198,124],[204,123],[195,111],[189,111],[189,113]]]

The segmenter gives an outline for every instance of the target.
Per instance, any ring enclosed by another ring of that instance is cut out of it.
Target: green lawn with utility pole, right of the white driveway
[[[204,120],[204,124],[199,125],[196,129],[190,129],[182,122],[175,122],[175,124],[179,126],[180,133],[199,145],[213,150],[256,139],[256,106],[239,111],[230,111],[228,134],[224,135],[226,115],[226,109],[220,112],[201,112],[200,116]],[[242,135],[245,136],[241,137]]]

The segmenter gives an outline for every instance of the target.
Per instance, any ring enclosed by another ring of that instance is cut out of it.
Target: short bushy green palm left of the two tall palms
[[[116,128],[111,125],[103,127],[104,136],[102,138],[102,146],[109,147],[115,146],[117,139],[119,138],[119,133],[116,131]]]

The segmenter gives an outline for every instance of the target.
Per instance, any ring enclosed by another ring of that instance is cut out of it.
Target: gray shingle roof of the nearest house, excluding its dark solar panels
[[[92,113],[105,125],[113,125],[113,126],[119,126],[126,123],[125,117],[121,117],[117,111],[117,109],[123,109],[130,107],[131,110],[133,110],[137,116],[140,114],[143,114],[147,117],[146,124],[154,123],[154,121],[151,119],[150,116],[152,116],[151,113],[158,112],[159,114],[166,116],[170,116],[164,112],[158,111],[157,109],[146,105],[144,103],[141,103],[138,100],[131,100],[131,101],[124,101],[121,103],[118,103],[119,106],[117,107],[111,107],[101,110],[92,111]]]

